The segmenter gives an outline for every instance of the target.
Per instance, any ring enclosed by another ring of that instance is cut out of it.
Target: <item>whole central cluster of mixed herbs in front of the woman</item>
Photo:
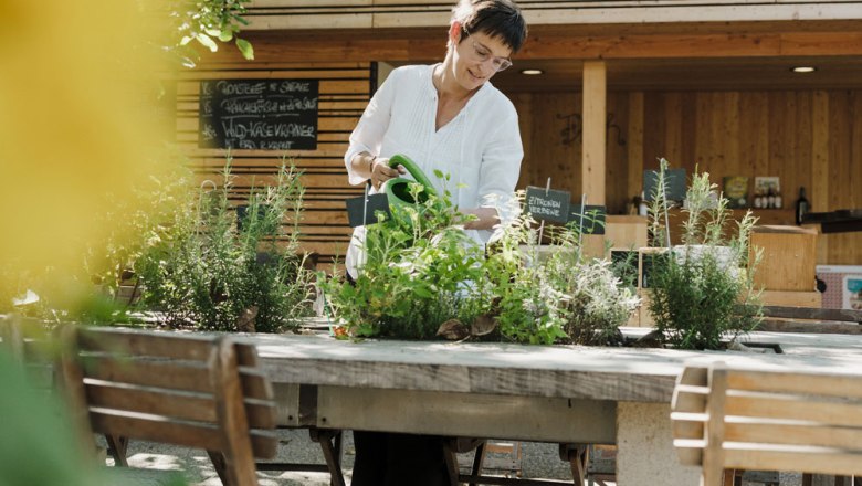
[[[335,316],[350,334],[620,341],[618,328],[639,300],[609,262],[582,257],[577,226],[549,229],[559,251],[540,257],[536,221],[521,213],[497,226],[485,252],[462,231],[464,216],[449,198],[444,191],[368,226],[367,257],[355,285],[326,284]],[[523,200],[521,191],[513,209]]]

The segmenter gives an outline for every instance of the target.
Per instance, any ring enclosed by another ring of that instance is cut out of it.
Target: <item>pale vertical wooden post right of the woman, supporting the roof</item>
[[[584,63],[581,189],[593,204],[605,204],[606,78],[605,61]]]

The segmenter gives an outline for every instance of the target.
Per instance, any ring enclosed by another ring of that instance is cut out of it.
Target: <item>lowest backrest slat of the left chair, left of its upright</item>
[[[216,424],[158,419],[132,412],[90,411],[94,432],[201,448],[217,448],[214,445],[222,443]]]

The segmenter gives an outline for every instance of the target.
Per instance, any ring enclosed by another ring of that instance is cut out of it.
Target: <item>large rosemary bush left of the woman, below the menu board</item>
[[[311,275],[298,255],[303,188],[282,165],[273,186],[252,188],[242,220],[223,184],[202,184],[190,203],[146,235],[135,262],[141,306],[174,327],[277,332],[309,314]],[[292,223],[285,231],[284,222]]]

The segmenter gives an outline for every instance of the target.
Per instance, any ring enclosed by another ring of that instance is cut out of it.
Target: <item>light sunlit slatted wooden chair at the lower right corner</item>
[[[671,419],[705,486],[737,468],[862,475],[862,376],[688,366]]]

